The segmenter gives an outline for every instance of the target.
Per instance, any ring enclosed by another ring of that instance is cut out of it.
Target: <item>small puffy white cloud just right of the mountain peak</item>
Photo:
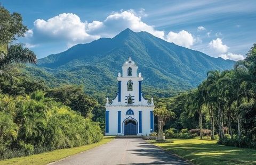
[[[187,48],[190,48],[190,46],[194,44],[194,38],[192,34],[186,30],[182,30],[178,33],[170,31],[166,36],[166,40],[168,42],[173,42],[174,44]]]

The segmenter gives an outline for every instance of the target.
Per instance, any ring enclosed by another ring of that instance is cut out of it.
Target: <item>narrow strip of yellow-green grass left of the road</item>
[[[92,149],[95,146],[99,146],[101,144],[105,144],[113,140],[115,136],[105,136],[103,140],[98,143],[78,146],[71,149],[61,149],[61,150],[54,150],[50,152],[40,153],[36,155],[30,155],[28,157],[21,157],[21,158],[12,158],[0,161],[0,164],[19,164],[19,165],[32,165],[32,164],[47,164],[53,161],[60,160],[62,158],[66,158],[70,155],[74,155],[79,152],[83,152],[89,149]]]

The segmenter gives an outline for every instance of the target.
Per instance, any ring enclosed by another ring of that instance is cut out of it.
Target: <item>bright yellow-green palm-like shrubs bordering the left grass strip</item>
[[[99,123],[36,91],[25,97],[0,94],[0,159],[96,143]]]

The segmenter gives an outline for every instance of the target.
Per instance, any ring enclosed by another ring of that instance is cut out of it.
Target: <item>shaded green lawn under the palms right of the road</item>
[[[256,150],[217,144],[217,141],[199,138],[174,143],[155,143],[171,153],[195,164],[256,164]]]

